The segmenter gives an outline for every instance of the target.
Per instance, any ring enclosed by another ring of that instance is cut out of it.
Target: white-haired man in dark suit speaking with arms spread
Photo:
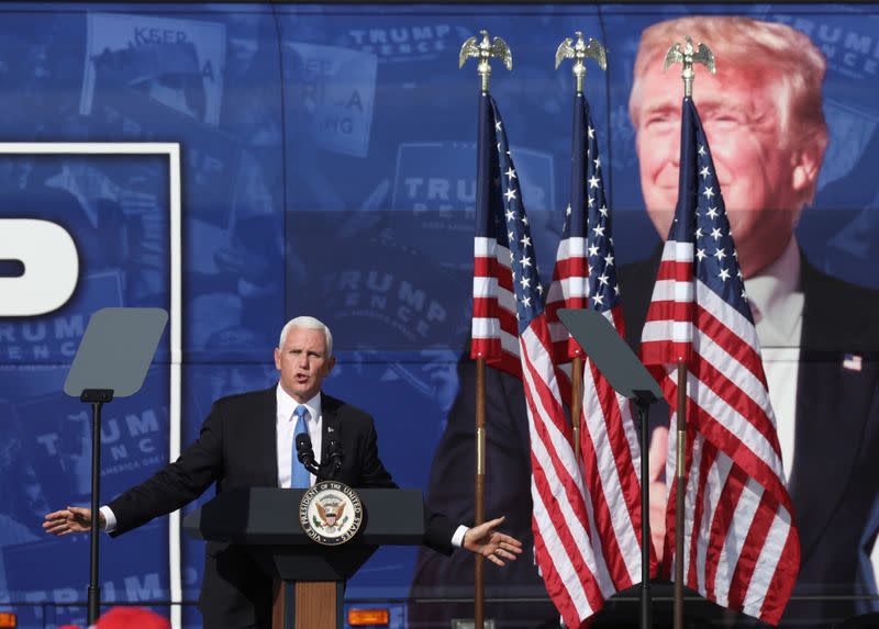
[[[396,487],[379,459],[375,423],[364,411],[325,394],[322,383],[335,366],[333,337],[320,321],[302,316],[281,330],[275,349],[277,385],[218,400],[199,438],[174,463],[100,508],[100,527],[115,537],[179,509],[211,484],[235,487],[307,487],[314,482],[294,457],[294,435],[308,431],[322,462],[327,435],[341,441],[344,462],[336,479],[352,487]],[[503,518],[478,527],[455,526],[425,513],[424,544],[452,554],[456,547],[503,565],[521,542],[497,530]],[[67,507],[48,514],[43,527],[54,535],[85,532],[91,510]],[[199,608],[204,627],[268,627],[271,579],[235,544],[209,542]]]

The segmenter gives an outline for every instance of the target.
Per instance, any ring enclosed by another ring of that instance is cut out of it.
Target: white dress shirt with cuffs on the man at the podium
[[[278,486],[282,488],[290,488],[291,478],[293,475],[293,460],[296,451],[296,442],[293,440],[293,430],[296,430],[297,418],[293,415],[296,407],[300,405],[299,402],[293,400],[283,389],[280,382],[276,387],[277,400],[277,414],[275,417],[277,428],[277,456],[278,456]],[[308,408],[305,414],[305,427],[308,428],[309,436],[311,437],[312,449],[314,450],[314,460],[320,461],[321,446],[323,445],[323,415],[321,414],[321,394],[320,392],[307,401],[303,406]],[[298,465],[301,465],[297,461]],[[314,474],[310,474],[310,482],[314,484]],[[113,532],[116,528],[116,518],[112,509],[107,505],[100,508],[107,520],[104,530]],[[468,531],[468,527],[459,525],[452,536],[452,546],[460,548],[464,543],[464,533]]]

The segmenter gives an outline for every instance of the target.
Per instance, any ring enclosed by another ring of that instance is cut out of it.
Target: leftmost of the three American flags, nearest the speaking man
[[[482,306],[474,308],[474,351],[480,357],[478,347],[500,350],[494,364],[508,370],[509,357],[519,362],[531,437],[536,561],[566,625],[581,627],[615,588],[607,563],[594,550],[591,501],[570,445],[519,177],[498,108],[490,94],[480,99],[478,151],[485,164],[479,175],[485,181],[477,183],[475,288],[481,291],[475,301]],[[492,313],[496,316],[487,316]],[[477,316],[490,322],[477,325]],[[494,335],[476,337],[477,329]]]

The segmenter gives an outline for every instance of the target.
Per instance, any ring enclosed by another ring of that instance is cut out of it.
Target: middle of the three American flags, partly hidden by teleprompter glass
[[[547,291],[547,319],[556,361],[568,367],[583,357],[579,344],[558,323],[558,308],[602,313],[623,332],[620,287],[616,283],[611,215],[596,130],[582,93],[574,103],[571,202],[558,246],[553,283]],[[569,373],[569,369],[565,369]],[[616,589],[641,582],[641,447],[630,402],[617,395],[587,361],[582,378],[580,450],[583,480],[594,528],[590,538],[607,564]]]

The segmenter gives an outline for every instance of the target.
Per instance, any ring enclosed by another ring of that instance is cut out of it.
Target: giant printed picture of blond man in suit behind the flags
[[[645,207],[660,238],[668,234],[677,201],[682,92],[679,74],[664,72],[663,59],[670,43],[685,35],[708,43],[717,59],[716,76],[697,67],[693,101],[711,144],[778,418],[802,550],[794,595],[876,594],[869,554],[877,526],[870,512],[879,496],[879,327],[874,325],[879,295],[810,265],[794,233],[815,193],[827,145],[824,56],[803,33],[748,18],[688,16],[644,31],[630,116]],[[658,247],[646,260],[620,269],[626,336],[634,350],[660,252]],[[498,370],[486,371],[487,508],[508,514],[511,533],[530,547],[522,385]],[[458,372],[460,391],[433,462],[429,501],[466,518],[472,504],[467,462],[474,457],[475,364],[464,359]],[[652,424],[660,427],[649,449],[650,526],[661,550],[667,406],[655,405]],[[413,593],[471,584],[469,563],[461,558],[441,563],[422,552]],[[515,596],[516,586],[541,584],[524,561],[496,576],[489,583],[501,596]],[[515,607],[528,613],[526,606]],[[813,619],[845,618],[856,610],[854,598],[798,602],[788,608],[791,618]]]

